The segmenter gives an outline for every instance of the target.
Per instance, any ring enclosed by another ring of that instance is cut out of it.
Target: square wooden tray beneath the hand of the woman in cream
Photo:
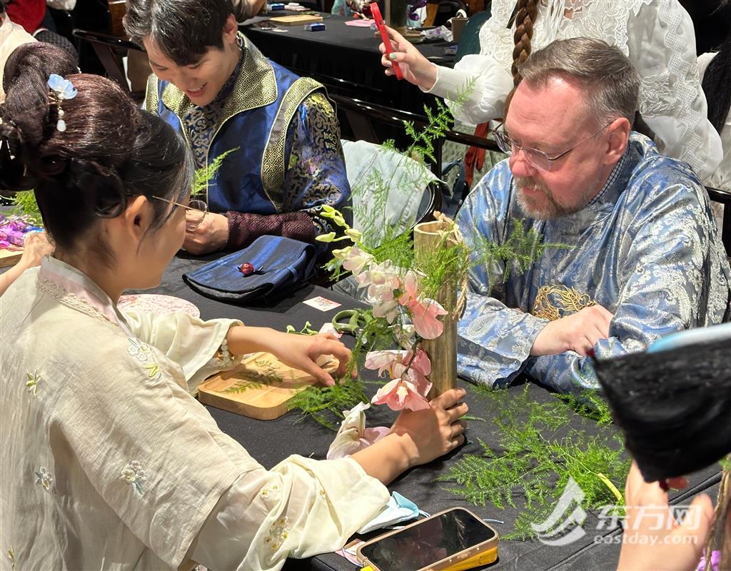
[[[322,368],[335,371],[338,361],[325,358]],[[209,377],[198,385],[198,399],[238,415],[274,420],[289,410],[287,403],[315,379],[288,367],[269,353],[254,353],[237,368]]]

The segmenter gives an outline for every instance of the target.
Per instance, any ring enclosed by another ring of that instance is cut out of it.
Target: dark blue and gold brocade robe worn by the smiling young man
[[[240,60],[213,102],[194,105],[151,75],[145,108],[183,134],[197,167],[230,151],[205,189],[209,210],[229,219],[227,249],[264,234],[314,242],[336,230],[319,216],[322,205],[342,210],[350,202],[335,110],[320,83],[269,61],[239,37]]]

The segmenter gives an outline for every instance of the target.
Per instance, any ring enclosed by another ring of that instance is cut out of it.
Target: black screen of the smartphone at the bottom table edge
[[[495,532],[469,512],[450,510],[366,545],[360,553],[382,571],[414,571],[493,537]]]

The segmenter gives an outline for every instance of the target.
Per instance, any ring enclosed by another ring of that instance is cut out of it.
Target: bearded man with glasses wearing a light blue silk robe
[[[510,262],[474,267],[458,370],[494,387],[525,373],[561,392],[596,388],[587,355],[728,321],[731,271],[696,173],[632,132],[640,77],[621,50],[560,40],[520,72],[495,132],[510,156],[471,192],[458,224],[476,261],[480,240],[504,243],[517,224],[564,247],[525,273]]]

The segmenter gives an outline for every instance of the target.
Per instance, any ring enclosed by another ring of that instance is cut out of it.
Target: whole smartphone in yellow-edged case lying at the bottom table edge
[[[498,533],[463,507],[431,515],[360,545],[363,565],[379,571],[446,571],[496,561]]]

